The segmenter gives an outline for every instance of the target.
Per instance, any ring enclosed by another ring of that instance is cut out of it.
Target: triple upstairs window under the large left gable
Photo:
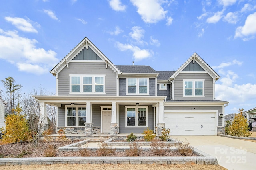
[[[70,75],[70,93],[105,93],[105,75]]]

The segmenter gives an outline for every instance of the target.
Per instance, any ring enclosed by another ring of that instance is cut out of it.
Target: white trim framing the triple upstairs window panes
[[[72,92],[72,77],[80,77],[80,92]],[[92,92],[84,92],[83,77],[92,77]],[[95,77],[103,77],[103,92],[95,92]],[[69,93],[70,94],[105,94],[106,75],[105,74],[70,74],[69,75]]]

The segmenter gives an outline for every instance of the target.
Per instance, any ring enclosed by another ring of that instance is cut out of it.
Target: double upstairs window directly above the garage
[[[204,80],[183,80],[184,97],[204,96]]]

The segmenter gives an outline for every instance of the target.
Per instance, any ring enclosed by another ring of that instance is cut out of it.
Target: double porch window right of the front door
[[[126,127],[148,127],[148,106],[125,106]]]

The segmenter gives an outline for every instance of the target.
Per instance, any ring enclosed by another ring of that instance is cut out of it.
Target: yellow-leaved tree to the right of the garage
[[[248,137],[252,133],[249,132],[249,127],[246,117],[243,116],[243,110],[239,109],[235,115],[233,122],[228,127],[229,134],[237,137]]]

